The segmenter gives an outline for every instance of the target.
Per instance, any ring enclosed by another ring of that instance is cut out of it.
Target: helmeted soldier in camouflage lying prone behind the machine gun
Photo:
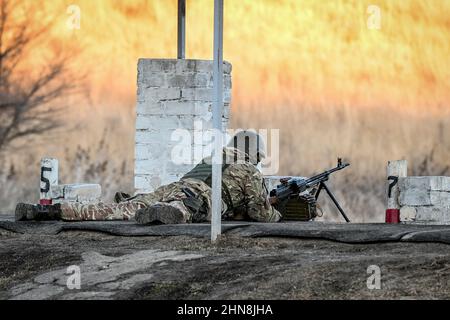
[[[269,203],[257,165],[265,157],[262,138],[238,132],[223,149],[222,217],[231,220],[277,222],[281,214]],[[180,181],[148,194],[116,194],[116,203],[55,205],[18,204],[16,220],[130,220],[140,224],[211,221],[211,157],[205,158]]]

